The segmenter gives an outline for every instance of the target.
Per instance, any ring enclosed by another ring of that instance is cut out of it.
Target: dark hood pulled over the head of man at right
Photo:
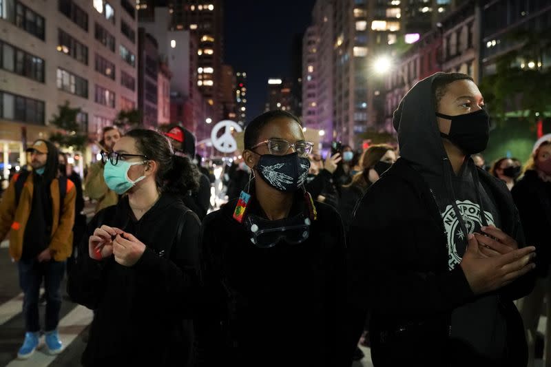
[[[400,156],[415,168],[442,176],[443,160],[448,160],[438,129],[433,98],[433,81],[444,74],[437,72],[417,84],[402,98],[393,116],[398,133]]]

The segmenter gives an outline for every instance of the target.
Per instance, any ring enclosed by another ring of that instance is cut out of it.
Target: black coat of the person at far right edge
[[[512,188],[519,208],[526,243],[536,247],[536,272],[545,277],[551,264],[551,182],[543,182],[536,171],[526,171]]]

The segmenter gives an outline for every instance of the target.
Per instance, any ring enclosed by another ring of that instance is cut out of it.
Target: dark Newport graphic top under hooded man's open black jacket
[[[465,254],[468,239],[453,209],[451,192],[446,189],[444,178],[425,177],[433,191],[446,230],[446,246],[448,247],[448,269],[451,271],[459,266]],[[475,191],[472,171],[464,165],[457,176],[452,176],[452,187],[456,204],[464,221],[467,235],[482,233],[480,227],[481,209]],[[478,191],[484,208],[486,222],[501,227],[501,218],[492,198],[491,191],[479,183]],[[489,361],[499,361],[506,347],[506,322],[499,312],[496,293],[489,293],[455,308],[451,317],[450,337],[455,353],[461,353],[463,348],[472,348]]]

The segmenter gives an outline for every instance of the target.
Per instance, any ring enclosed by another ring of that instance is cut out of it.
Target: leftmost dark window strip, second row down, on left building
[[[2,41],[0,69],[44,83],[44,60]]]

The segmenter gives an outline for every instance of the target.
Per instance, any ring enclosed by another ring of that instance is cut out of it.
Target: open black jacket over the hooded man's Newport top
[[[478,171],[499,210],[502,229],[524,244],[509,191]],[[439,209],[428,185],[400,158],[358,205],[350,230],[352,345],[368,309],[373,364],[380,366],[479,366],[466,345],[450,342],[450,315],[473,300],[461,266],[448,270],[448,250]],[[528,273],[499,290],[507,322],[508,366],[526,366],[522,320],[512,303],[532,290]],[[485,364],[488,366],[488,364]]]

